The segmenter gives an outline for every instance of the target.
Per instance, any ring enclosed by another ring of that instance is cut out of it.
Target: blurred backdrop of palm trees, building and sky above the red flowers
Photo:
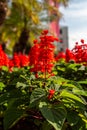
[[[87,1],[0,0],[0,44],[8,55],[29,53],[43,29],[60,38],[56,52],[86,39]]]

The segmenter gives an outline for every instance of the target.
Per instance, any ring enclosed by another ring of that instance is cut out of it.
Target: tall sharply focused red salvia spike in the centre
[[[52,44],[55,39],[53,36],[46,35],[47,32],[40,37],[40,55],[39,61],[43,63],[42,70],[44,73],[49,73],[52,71],[54,62],[54,49],[55,46]]]

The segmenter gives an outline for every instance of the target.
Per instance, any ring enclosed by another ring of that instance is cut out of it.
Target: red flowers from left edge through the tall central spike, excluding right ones
[[[14,53],[10,59],[0,46],[0,66],[8,66],[10,70],[13,67],[31,66],[31,71],[51,74],[54,66],[54,41],[57,38],[50,36],[48,30],[44,30],[39,40],[34,40],[34,46],[31,48],[29,55]]]

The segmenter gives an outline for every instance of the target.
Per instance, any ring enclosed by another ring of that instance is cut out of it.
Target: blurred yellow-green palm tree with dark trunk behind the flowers
[[[27,48],[32,46],[33,39],[46,28],[44,23],[49,17],[51,19],[51,16],[46,15],[48,11],[55,10],[57,16],[61,16],[59,10],[49,5],[47,1],[12,0],[11,6],[8,5],[10,13],[0,29],[0,40],[9,42],[8,48],[11,51],[27,53]],[[54,1],[64,3],[64,5],[68,2],[68,0]]]

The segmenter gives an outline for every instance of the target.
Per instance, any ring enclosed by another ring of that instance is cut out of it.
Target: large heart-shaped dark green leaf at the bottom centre
[[[52,106],[46,102],[40,102],[39,104],[40,111],[45,119],[56,129],[61,130],[63,123],[66,119],[66,110],[64,107],[57,105]]]

